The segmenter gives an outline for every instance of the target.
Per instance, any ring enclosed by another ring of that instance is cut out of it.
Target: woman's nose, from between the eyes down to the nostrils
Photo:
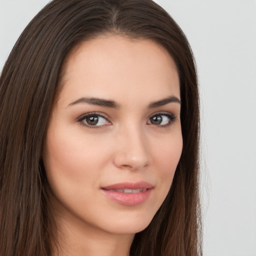
[[[117,137],[113,158],[117,167],[139,170],[149,164],[148,141],[139,127],[123,127]]]

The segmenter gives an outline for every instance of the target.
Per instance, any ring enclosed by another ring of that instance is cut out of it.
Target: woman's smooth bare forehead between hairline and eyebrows
[[[155,94],[179,97],[176,65],[155,41],[99,36],[77,44],[67,54],[60,94],[120,99],[124,95],[132,98],[134,93],[149,100],[154,100]]]

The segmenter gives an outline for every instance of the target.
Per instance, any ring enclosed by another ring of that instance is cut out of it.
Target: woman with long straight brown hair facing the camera
[[[189,44],[151,0],[53,0],[0,77],[0,255],[199,255]]]

